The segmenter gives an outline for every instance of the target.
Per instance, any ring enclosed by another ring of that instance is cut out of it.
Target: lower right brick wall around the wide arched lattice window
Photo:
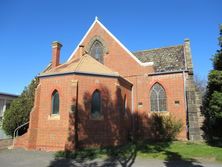
[[[150,90],[155,83],[161,84],[166,92],[167,112],[164,112],[164,114],[171,114],[177,120],[182,121],[183,129],[178,138],[186,139],[186,102],[183,73],[138,77],[137,94],[135,96],[137,96],[138,102],[143,104],[140,107],[137,105],[138,115],[142,117],[143,122],[140,127],[144,127],[142,131],[145,131],[144,133],[149,137],[149,132],[147,132],[147,120],[153,113],[150,109]],[[179,104],[175,104],[175,101],[179,101]]]

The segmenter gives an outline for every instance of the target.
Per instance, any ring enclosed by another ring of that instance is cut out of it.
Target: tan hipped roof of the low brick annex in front
[[[56,68],[49,68],[43,71],[40,76],[65,74],[65,73],[84,73],[107,76],[119,76],[117,72],[112,71],[105,65],[101,64],[88,54],[81,56],[78,59],[68,61],[59,65]]]

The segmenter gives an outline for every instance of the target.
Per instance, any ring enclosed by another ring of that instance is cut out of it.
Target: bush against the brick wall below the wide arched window
[[[171,115],[153,114],[150,119],[150,133],[153,139],[173,140],[182,127],[182,122]]]

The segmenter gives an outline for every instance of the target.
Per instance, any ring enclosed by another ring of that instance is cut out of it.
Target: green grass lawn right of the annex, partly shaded
[[[158,159],[204,159],[222,162],[222,148],[212,147],[205,143],[159,142],[147,143],[138,149],[138,156]]]

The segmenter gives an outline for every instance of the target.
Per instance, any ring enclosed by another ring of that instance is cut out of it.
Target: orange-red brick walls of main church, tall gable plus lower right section
[[[82,44],[87,48],[94,36],[100,36],[108,48],[108,54],[104,55],[104,64],[119,72],[133,84],[134,112],[139,112],[144,117],[148,116],[150,113],[149,91],[155,82],[159,82],[167,93],[169,113],[172,113],[178,119],[182,119],[184,124],[179,138],[186,139],[186,105],[184,101],[183,75],[175,73],[148,77],[147,74],[154,72],[153,66],[144,67],[138,64],[98,23],[95,24]],[[73,58],[78,57],[78,54],[79,51],[76,52]],[[175,100],[179,100],[180,104],[175,105]],[[138,107],[139,102],[143,103],[142,107]]]

